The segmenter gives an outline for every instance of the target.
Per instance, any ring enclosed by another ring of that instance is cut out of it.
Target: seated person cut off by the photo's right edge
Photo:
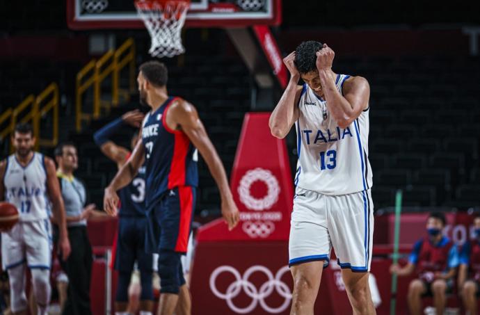
[[[463,244],[458,268],[458,290],[470,314],[477,313],[480,296],[480,213],[473,219],[474,239]]]

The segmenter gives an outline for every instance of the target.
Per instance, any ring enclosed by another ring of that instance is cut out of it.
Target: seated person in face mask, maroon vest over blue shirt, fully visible
[[[445,214],[432,212],[426,220],[427,236],[419,239],[408,257],[408,264],[390,266],[390,273],[399,277],[417,274],[408,286],[410,314],[422,314],[422,297],[433,296],[436,314],[443,314],[447,302],[446,293],[451,291],[458,267],[458,250],[447,236],[442,234],[447,220]]]

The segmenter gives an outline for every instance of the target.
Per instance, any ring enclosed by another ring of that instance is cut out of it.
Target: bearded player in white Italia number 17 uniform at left
[[[31,126],[18,124],[12,143],[15,154],[0,162],[0,200],[15,204],[19,223],[10,231],[1,233],[2,265],[3,270],[8,270],[13,314],[26,314],[25,267],[28,266],[38,314],[43,315],[47,314],[51,291],[51,228],[47,196],[60,229],[58,246],[63,259],[70,255],[65,209],[54,161],[32,150],[35,138]]]

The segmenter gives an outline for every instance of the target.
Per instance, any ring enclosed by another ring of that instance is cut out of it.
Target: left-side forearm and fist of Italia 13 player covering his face
[[[289,133],[291,126],[298,118],[298,99],[300,98],[302,87],[298,86],[300,73],[294,64],[295,51],[283,59],[283,63],[290,72],[290,81],[285,92],[283,92],[280,101],[270,115],[269,127],[271,134],[277,138],[285,138]]]

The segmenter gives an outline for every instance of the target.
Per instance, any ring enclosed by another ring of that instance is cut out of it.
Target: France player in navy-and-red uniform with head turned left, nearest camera
[[[221,211],[229,229],[237,225],[239,211],[234,203],[221,160],[203,127],[195,107],[168,95],[167,69],[149,61],[140,66],[138,90],[142,104],[151,110],[145,116],[142,142],[105,189],[104,209],[115,215],[118,189],[126,186],[145,161],[145,202],[150,225],[149,248],[159,252],[161,296],[159,315],[171,315],[177,305],[188,305],[190,293],[182,274],[184,255],[191,232],[195,188],[198,186],[197,159],[200,151],[221,194]],[[187,302],[185,302],[187,300]]]

